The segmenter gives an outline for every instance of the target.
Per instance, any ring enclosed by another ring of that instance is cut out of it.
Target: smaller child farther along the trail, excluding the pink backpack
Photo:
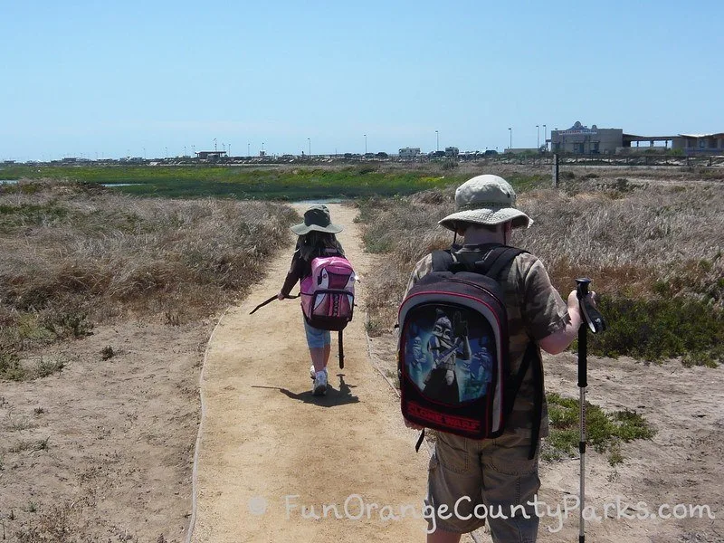
[[[300,282],[302,308],[305,310],[302,314],[304,331],[307,336],[307,345],[310,348],[311,357],[310,377],[314,381],[312,394],[325,395],[328,386],[327,365],[331,352],[330,328],[325,326],[322,329],[310,324],[310,315],[306,313],[310,312],[310,306],[319,305],[322,300],[317,300],[316,297],[311,298],[310,293],[305,291],[305,287],[308,286],[307,283],[310,282],[305,280],[309,280],[312,276],[312,263],[316,262],[315,259],[319,261],[319,259],[329,257],[344,257],[342,245],[335,236],[336,233],[342,231],[342,227],[338,224],[332,224],[329,209],[326,205],[312,205],[304,213],[304,223],[292,226],[291,231],[299,235],[299,239],[297,240],[294,255],[291,258],[290,270],[277,298],[279,300],[287,298],[294,285],[298,281]],[[319,278],[320,280],[321,278]],[[354,281],[354,278],[352,281]],[[329,303],[329,300],[327,302]]]

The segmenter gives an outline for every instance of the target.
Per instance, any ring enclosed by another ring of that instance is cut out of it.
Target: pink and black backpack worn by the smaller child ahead
[[[341,256],[318,257],[311,261],[311,275],[301,281],[301,310],[310,326],[342,330],[352,320],[357,276]]]

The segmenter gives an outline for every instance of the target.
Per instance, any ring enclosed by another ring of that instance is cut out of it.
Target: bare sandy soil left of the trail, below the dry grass
[[[62,372],[0,383],[0,540],[184,537],[211,328],[99,327],[43,352]]]

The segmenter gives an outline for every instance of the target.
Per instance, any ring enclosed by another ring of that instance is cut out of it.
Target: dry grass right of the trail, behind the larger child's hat
[[[519,207],[535,224],[511,243],[538,255],[564,294],[576,277],[589,276],[609,297],[691,300],[720,316],[724,186],[695,174],[665,183],[630,182],[625,174],[572,176],[564,190],[519,194]],[[452,200],[452,190],[435,190],[362,205],[367,247],[386,253],[370,293],[371,332],[395,322],[414,262],[452,243],[452,233],[437,225],[452,212]]]

